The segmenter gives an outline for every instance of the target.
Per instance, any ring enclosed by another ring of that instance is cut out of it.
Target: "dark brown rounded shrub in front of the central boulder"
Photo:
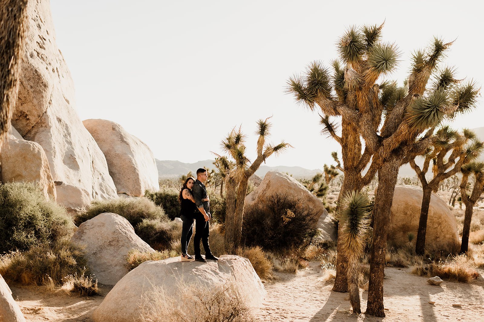
[[[304,212],[299,198],[275,195],[266,207],[256,205],[244,212],[242,238],[247,246],[284,251],[300,247],[316,235],[315,212]]]

